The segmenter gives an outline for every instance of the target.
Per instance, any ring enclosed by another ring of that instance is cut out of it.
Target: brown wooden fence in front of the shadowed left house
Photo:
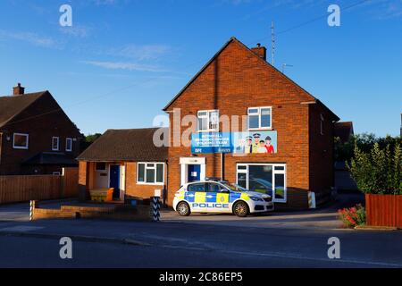
[[[0,176],[0,205],[78,197],[78,173],[78,168],[64,168],[60,176]]]

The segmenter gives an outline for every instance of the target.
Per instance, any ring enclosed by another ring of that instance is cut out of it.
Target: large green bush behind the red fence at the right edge
[[[375,143],[368,152],[356,145],[348,169],[364,194],[402,195],[402,150],[398,143],[382,149]]]

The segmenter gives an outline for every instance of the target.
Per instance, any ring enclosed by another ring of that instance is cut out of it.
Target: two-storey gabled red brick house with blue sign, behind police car
[[[263,46],[249,49],[230,38],[164,111],[171,122],[170,203],[183,183],[205,177],[223,177],[247,189],[271,192],[277,207],[307,208],[314,195],[317,203],[328,198],[334,185],[334,122],[339,118],[267,63]],[[187,115],[197,117],[193,123],[197,126],[184,133],[187,127],[180,124]],[[231,130],[243,132],[239,133],[244,136],[239,147],[242,152],[246,149],[244,156],[203,153],[202,148],[175,144],[174,140],[183,135],[190,140],[203,134],[221,134],[223,122],[216,118],[223,115],[230,120],[240,116],[239,122],[231,120],[230,124]],[[255,147],[247,145],[247,134]],[[276,146],[270,147],[272,140]]]

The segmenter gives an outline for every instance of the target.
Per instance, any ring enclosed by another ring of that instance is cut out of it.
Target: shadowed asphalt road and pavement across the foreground
[[[334,206],[313,212],[272,213],[246,219],[163,212],[159,223],[43,220],[29,222],[28,204],[0,207],[0,267],[397,267],[402,231],[337,227]],[[339,205],[340,204],[340,205]],[[73,258],[59,256],[70,237]],[[328,257],[339,238],[340,259]]]

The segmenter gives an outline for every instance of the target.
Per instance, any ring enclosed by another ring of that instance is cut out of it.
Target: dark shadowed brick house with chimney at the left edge
[[[0,175],[61,174],[78,166],[80,130],[49,91],[0,97]]]

